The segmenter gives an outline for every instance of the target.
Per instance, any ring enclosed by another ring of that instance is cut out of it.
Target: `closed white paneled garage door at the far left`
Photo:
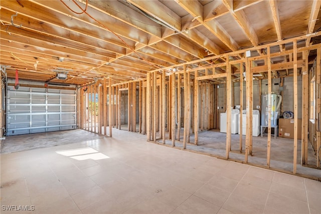
[[[76,91],[8,87],[7,136],[76,129]]]

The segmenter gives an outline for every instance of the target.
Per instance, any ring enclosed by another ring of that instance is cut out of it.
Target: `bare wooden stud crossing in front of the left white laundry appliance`
[[[230,158],[230,148],[231,148],[231,86],[232,86],[232,76],[231,76],[231,65],[229,63],[229,57],[226,57],[226,159]]]

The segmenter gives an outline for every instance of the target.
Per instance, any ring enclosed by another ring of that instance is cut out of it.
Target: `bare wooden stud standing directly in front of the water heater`
[[[268,134],[267,134],[267,157],[266,157],[266,165],[270,168],[270,157],[271,157],[271,93],[272,93],[272,80],[271,80],[271,50],[270,47],[267,47],[267,71],[268,71]],[[274,110],[276,111],[276,109]],[[275,128],[274,128],[275,129]],[[274,130],[275,135],[275,130]]]

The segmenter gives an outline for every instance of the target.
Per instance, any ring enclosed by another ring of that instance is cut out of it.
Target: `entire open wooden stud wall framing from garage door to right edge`
[[[245,51],[236,51],[225,54],[223,56],[226,59],[225,62],[219,64],[213,63],[210,66],[191,68],[188,63],[185,63],[177,67],[175,72],[173,70],[158,69],[148,72],[145,79],[114,85],[111,85],[110,79],[100,80],[95,84],[87,86],[86,91],[83,90],[84,87],[79,89],[79,97],[82,97],[79,101],[79,117],[81,118],[79,125],[81,128],[91,132],[104,135],[109,133],[108,136],[111,136],[113,127],[130,132],[138,132],[146,134],[147,141],[149,142],[167,144],[173,147],[176,146],[177,142],[180,142],[183,143],[183,148],[186,149],[188,144],[199,144],[199,132],[219,129],[219,114],[226,111],[226,153],[221,158],[229,159],[232,141],[230,110],[235,104],[240,104],[241,109],[247,110],[246,124],[252,124],[252,111],[255,109],[253,106],[253,81],[256,81],[256,87],[259,87],[259,90],[255,91],[255,94],[259,94],[259,97],[263,87],[263,80],[253,78],[256,76],[255,74],[263,75],[267,81],[267,93],[271,94],[274,78],[279,78],[279,86],[283,86],[284,79],[277,76],[277,70],[293,70],[293,131],[294,134],[298,132],[298,109],[301,108],[302,151],[301,163],[299,163],[296,159],[298,139],[294,135],[292,173],[296,173],[297,164],[310,166],[307,157],[309,144],[312,145],[315,156],[318,157],[317,165],[313,167],[320,168],[321,45],[297,48],[296,40],[283,42],[291,43],[293,49],[280,50],[279,52],[274,51],[272,53],[272,47],[282,45],[281,41],[259,48],[252,48],[252,51],[257,50],[261,53],[258,56],[246,56]],[[315,51],[317,57],[314,60],[312,68],[308,70],[311,67],[308,60],[309,51]],[[239,56],[244,57],[237,59]],[[222,57],[222,55],[213,56],[211,59],[215,60],[218,57]],[[284,62],[272,64],[273,59],[277,57],[283,57]],[[262,61],[264,62],[263,65]],[[258,65],[259,62],[260,65]],[[241,78],[237,86],[237,88],[239,87],[237,89],[239,92],[235,93],[235,74],[243,76],[243,72],[245,72],[247,81],[244,84],[243,78]],[[302,79],[302,91],[298,90],[298,76],[301,76],[300,79]],[[219,87],[222,84],[225,86],[225,88],[223,87],[224,91],[222,87]],[[243,88],[243,84],[245,88]],[[98,99],[93,100],[92,94],[96,93],[99,94]],[[223,109],[219,105],[219,97],[220,95],[222,96],[222,93],[224,93]],[[298,102],[299,93],[302,94],[302,104]],[[244,95],[246,97],[245,102],[243,102],[243,98],[239,98],[239,103],[235,102],[236,97],[243,97]],[[110,97],[113,98],[110,99]],[[311,99],[315,102],[311,102]],[[98,104],[97,109],[93,108],[96,104]],[[260,98],[256,98],[255,105],[257,104],[261,105]],[[302,106],[298,108],[299,104]],[[270,100],[268,110],[271,111]],[[267,168],[270,168],[271,160],[272,130],[270,117],[269,114],[266,142],[267,156],[264,166]],[[109,127],[108,132],[106,127]],[[245,148],[242,148],[242,135],[239,140],[239,152],[244,154],[244,163],[249,162],[248,157],[253,153],[252,126],[248,127],[246,129]],[[191,139],[193,140],[191,141]]]

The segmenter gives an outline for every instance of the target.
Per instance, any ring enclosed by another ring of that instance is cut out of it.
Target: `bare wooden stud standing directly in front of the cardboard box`
[[[293,41],[293,96],[294,96],[294,146],[293,146],[293,174],[296,174],[297,157],[297,44]]]

